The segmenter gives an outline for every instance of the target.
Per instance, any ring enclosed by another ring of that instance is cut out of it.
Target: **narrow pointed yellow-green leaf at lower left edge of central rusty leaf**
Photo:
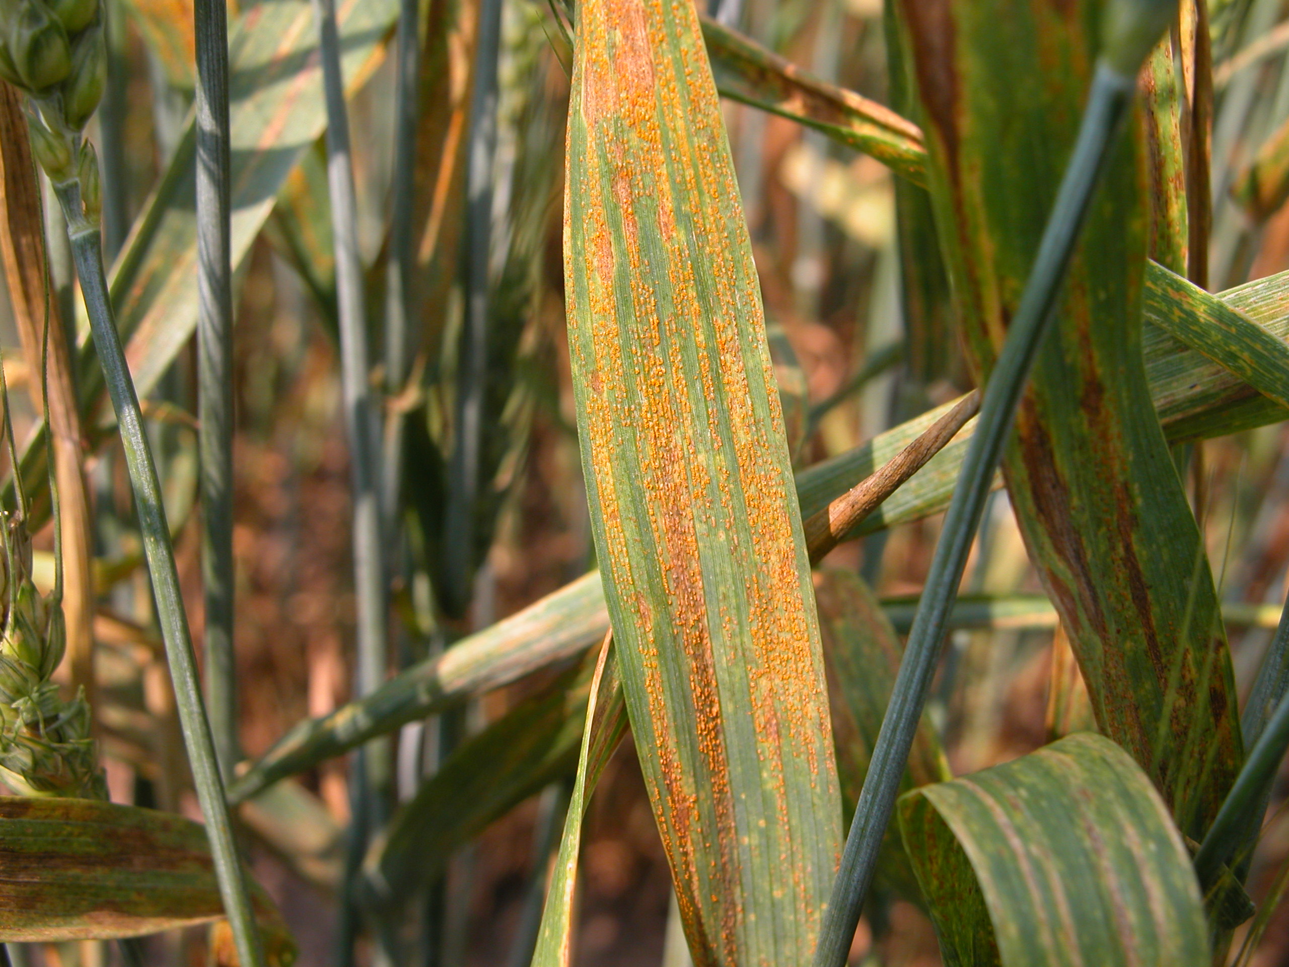
[[[623,700],[623,681],[616,651],[616,646],[606,640],[596,663],[590,699],[586,704],[589,718],[577,757],[577,777],[568,798],[559,854],[550,873],[550,884],[547,887],[547,903],[541,910],[541,927],[538,931],[532,967],[570,967],[572,962],[581,821],[586,815],[590,794],[599,781],[599,774],[605,771],[608,757],[626,731],[626,705]]]

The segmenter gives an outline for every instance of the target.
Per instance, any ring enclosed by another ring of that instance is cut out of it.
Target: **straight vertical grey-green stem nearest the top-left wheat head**
[[[196,0],[197,419],[206,710],[227,781],[237,763],[233,655],[233,277],[228,257],[228,13]]]

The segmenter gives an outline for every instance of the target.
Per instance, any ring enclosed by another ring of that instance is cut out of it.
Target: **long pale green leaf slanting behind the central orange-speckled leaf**
[[[1183,311],[1167,308],[1168,300],[1152,285],[1152,280],[1159,277],[1155,269],[1146,273],[1147,320],[1158,320],[1164,312]],[[1196,316],[1210,312],[1212,307],[1205,308],[1208,300],[1218,299],[1276,339],[1289,339],[1289,272],[1216,297],[1194,286],[1177,294],[1188,303],[1185,311]],[[1143,355],[1151,397],[1169,441],[1222,436],[1289,419],[1289,409],[1272,402],[1197,349],[1168,335],[1159,325],[1146,326]],[[895,456],[956,404],[956,400],[950,401],[879,433],[853,450],[799,472],[797,494],[803,516],[809,517],[828,507],[830,500]],[[852,535],[871,534],[944,511],[973,428],[974,422],[963,427],[958,440],[936,454]],[[36,440],[39,442],[40,437]],[[32,490],[44,478],[43,456],[44,447],[35,446],[28,447],[23,458],[23,477]],[[250,794],[282,776],[339,756],[366,739],[434,714],[470,694],[500,687],[552,663],[572,660],[599,641],[607,627],[599,576],[580,578],[513,618],[472,634],[442,656],[400,673],[367,698],[302,722],[255,763],[236,789],[240,796]]]

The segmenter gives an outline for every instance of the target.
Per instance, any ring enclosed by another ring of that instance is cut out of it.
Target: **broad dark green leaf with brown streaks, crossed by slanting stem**
[[[905,0],[904,12],[936,224],[984,380],[1074,143],[1101,4]],[[1142,361],[1139,142],[1129,125],[1106,165],[1003,473],[1098,726],[1196,837],[1243,750],[1208,558]]]

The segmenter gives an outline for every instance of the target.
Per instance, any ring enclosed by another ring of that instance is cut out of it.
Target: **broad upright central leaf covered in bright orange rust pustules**
[[[568,343],[632,732],[695,963],[808,959],[840,846],[751,245],[691,0],[586,0]]]

